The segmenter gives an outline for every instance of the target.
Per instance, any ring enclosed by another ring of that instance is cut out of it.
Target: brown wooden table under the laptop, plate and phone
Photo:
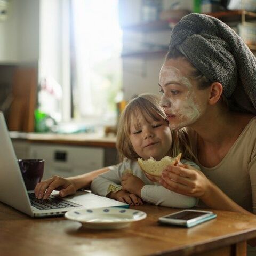
[[[177,211],[142,205],[146,219],[120,230],[89,230],[62,217],[33,219],[0,203],[1,256],[45,255],[246,255],[256,237],[256,218],[213,211],[217,219],[192,228],[160,226],[158,217]]]

